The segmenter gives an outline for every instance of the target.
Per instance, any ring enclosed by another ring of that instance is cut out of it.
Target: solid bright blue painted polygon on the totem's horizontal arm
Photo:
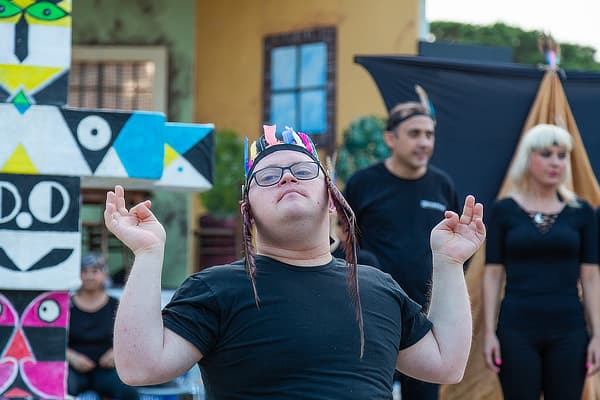
[[[165,116],[135,112],[115,139],[113,148],[130,178],[160,179],[165,158]]]

